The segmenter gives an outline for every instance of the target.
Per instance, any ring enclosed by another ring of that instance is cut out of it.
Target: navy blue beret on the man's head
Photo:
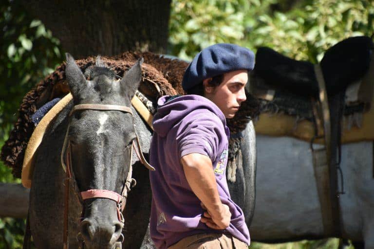
[[[196,54],[183,75],[184,90],[193,88],[204,79],[229,71],[253,70],[255,54],[249,49],[229,43],[219,43]]]

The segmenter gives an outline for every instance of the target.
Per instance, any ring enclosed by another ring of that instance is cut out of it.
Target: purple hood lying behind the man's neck
[[[158,99],[157,112],[153,117],[153,129],[161,137],[165,137],[174,125],[196,109],[207,109],[215,113],[226,125],[221,109],[203,96],[188,94],[169,100],[170,98],[171,96],[166,95]]]

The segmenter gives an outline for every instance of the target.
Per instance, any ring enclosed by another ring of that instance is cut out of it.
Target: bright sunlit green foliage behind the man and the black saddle
[[[277,3],[173,0],[170,52],[191,59],[211,44],[231,42],[253,50],[268,46],[289,57],[316,63],[338,41],[349,36],[372,36],[374,32],[374,1],[303,0],[284,13],[273,10]]]

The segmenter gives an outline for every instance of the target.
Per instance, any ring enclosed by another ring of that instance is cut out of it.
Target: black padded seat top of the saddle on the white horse
[[[361,79],[369,69],[373,48],[373,41],[367,36],[350,37],[329,48],[320,62],[327,93],[344,91]],[[314,66],[308,61],[297,61],[261,47],[255,65],[253,74],[269,87],[302,96],[318,95]]]

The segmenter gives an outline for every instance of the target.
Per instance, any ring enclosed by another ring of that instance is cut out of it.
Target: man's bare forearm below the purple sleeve
[[[198,153],[188,154],[181,159],[187,182],[193,193],[203,202],[209,212],[222,209],[211,160]]]

